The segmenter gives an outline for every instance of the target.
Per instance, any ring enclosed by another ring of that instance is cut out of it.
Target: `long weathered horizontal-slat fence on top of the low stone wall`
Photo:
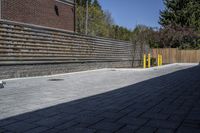
[[[0,64],[130,61],[132,51],[125,41],[0,21]]]

